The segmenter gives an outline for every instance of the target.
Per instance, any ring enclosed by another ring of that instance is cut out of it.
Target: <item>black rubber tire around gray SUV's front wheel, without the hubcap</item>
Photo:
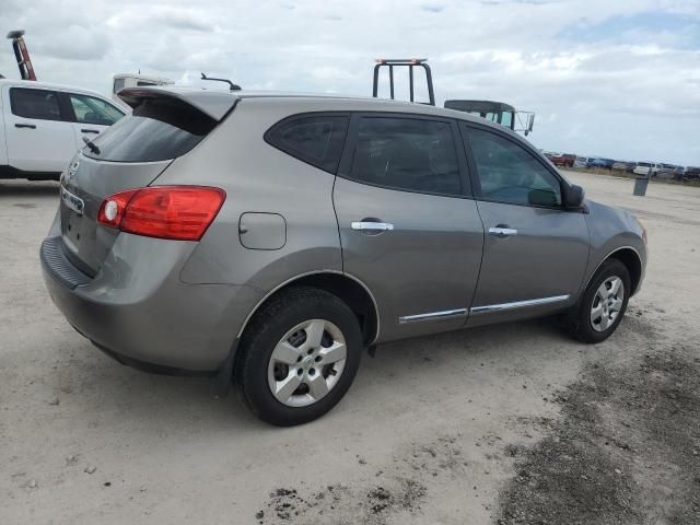
[[[591,320],[591,311],[593,308],[594,301],[596,300],[596,291],[606,280],[612,277],[621,279],[625,287],[622,306],[620,307],[615,320],[612,320],[605,330],[597,331],[594,329]],[[627,311],[627,303],[629,302],[631,290],[630,272],[622,262],[618,259],[608,259],[603,262],[600,268],[598,268],[588,282],[588,287],[583,292],[581,301],[567,316],[567,325],[571,335],[586,343],[596,343],[606,340],[612,335],[622,320],[625,312]]]

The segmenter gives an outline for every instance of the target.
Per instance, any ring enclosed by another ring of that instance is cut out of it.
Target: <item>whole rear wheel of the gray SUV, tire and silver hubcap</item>
[[[291,289],[262,306],[246,328],[236,383],[260,419],[305,423],[346,394],[361,345],[360,325],[345,302],[323,290]]]

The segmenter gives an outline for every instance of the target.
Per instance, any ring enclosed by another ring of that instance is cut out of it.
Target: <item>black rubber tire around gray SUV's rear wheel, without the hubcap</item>
[[[280,402],[268,384],[268,366],[282,337],[300,323],[322,318],[340,329],[347,357],[337,383],[325,397],[304,407]],[[348,392],[360,365],[362,332],[354,313],[338,296],[315,288],[292,288],[255,314],[243,334],[234,377],[253,413],[268,423],[291,427],[319,418]]]

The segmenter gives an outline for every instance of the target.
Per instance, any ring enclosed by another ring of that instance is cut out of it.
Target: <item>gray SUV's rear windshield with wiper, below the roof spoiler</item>
[[[217,120],[183,102],[144,98],[93,140],[100,153],[85,147],[83,154],[113,162],[166,161],[195,148],[214,126]]]

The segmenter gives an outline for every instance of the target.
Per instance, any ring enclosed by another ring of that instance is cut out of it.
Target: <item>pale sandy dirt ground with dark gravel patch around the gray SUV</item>
[[[51,304],[54,183],[0,183],[0,523],[700,523],[700,189],[570,174],[649,230],[605,343],[548,319],[378,348],[292,429],[148,375]]]

